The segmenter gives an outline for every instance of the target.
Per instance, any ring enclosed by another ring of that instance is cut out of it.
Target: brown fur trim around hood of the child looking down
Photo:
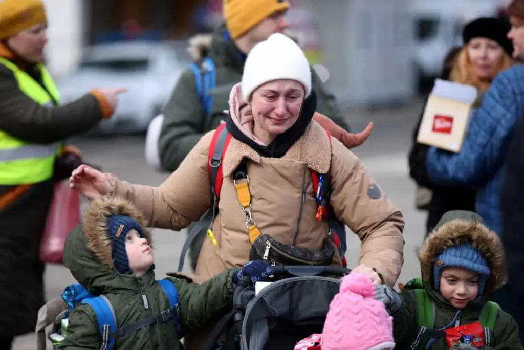
[[[443,223],[425,240],[419,253],[424,285],[431,286],[433,265],[442,251],[462,243],[473,244],[488,262],[491,275],[487,281],[485,294],[503,286],[506,281],[506,270],[504,248],[499,237],[482,223],[460,218]]]

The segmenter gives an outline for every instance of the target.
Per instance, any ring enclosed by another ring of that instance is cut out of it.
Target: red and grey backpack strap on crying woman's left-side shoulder
[[[226,124],[222,123],[216,128],[211,145],[209,146],[208,155],[208,172],[211,180],[211,192],[213,193],[214,205],[217,205],[220,199],[220,190],[222,189],[222,162],[224,154],[231,141],[231,134],[227,131]]]

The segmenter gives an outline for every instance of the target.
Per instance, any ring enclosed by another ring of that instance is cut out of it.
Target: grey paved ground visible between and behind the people
[[[409,106],[377,111],[353,111],[347,113],[354,130],[362,130],[369,121],[375,123],[372,136],[362,147],[355,149],[364,165],[374,175],[381,188],[400,207],[406,221],[404,231],[405,265],[399,282],[406,282],[420,274],[416,258],[416,246],[423,237],[424,214],[414,210],[414,185],[407,176],[407,151],[411,129],[420,113],[419,102]],[[152,171],[144,158],[144,136],[118,138],[82,138],[75,140],[86,161],[101,165],[104,171],[113,172],[130,182],[158,185],[167,174]],[[184,232],[156,229],[155,258],[156,274],[161,278],[177,268],[179,252],[184,242]],[[356,264],[359,242],[350,233],[347,258],[350,266]],[[187,266],[188,264],[186,264]],[[48,298],[58,296],[63,288],[74,282],[67,269],[49,266],[46,271],[46,293]],[[32,350],[36,347],[35,337],[29,334],[19,337],[14,350]]]

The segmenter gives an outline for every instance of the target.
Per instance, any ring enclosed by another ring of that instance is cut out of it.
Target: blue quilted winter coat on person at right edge
[[[500,192],[511,130],[524,112],[524,65],[497,75],[473,116],[458,154],[428,151],[429,179],[438,185],[477,189],[476,212],[500,234]]]

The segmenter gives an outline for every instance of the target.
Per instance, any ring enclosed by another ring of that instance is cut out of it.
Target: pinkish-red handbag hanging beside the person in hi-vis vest
[[[80,193],[69,187],[69,179],[57,182],[40,243],[42,263],[62,264],[65,239],[79,223]]]

